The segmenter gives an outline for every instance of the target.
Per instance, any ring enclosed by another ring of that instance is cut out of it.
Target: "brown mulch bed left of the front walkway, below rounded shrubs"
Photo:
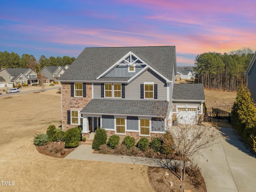
[[[36,150],[47,156],[55,157],[55,158],[64,158],[68,154],[70,154],[72,151],[74,151],[75,148],[65,148],[65,143],[60,142],[60,146],[58,142],[49,142],[43,146],[36,146]],[[64,155],[61,155],[60,152],[65,151]]]

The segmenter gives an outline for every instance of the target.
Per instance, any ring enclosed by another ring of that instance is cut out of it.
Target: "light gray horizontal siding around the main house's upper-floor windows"
[[[125,98],[102,98],[100,83],[93,84],[93,94],[95,99],[127,99],[127,100],[141,100],[140,98],[140,84],[144,82],[154,82],[158,86],[157,99],[146,99],[146,100],[167,100],[167,86],[166,81],[160,76],[155,74],[152,70],[146,70],[130,84],[125,86]]]

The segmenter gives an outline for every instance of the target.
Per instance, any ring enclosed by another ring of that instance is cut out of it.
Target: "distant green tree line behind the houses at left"
[[[23,54],[21,57],[14,52],[0,52],[0,69],[2,68],[31,68],[39,72],[44,66],[66,66],[71,65],[76,58],[63,56],[53,57],[42,55],[38,61],[33,55]]]

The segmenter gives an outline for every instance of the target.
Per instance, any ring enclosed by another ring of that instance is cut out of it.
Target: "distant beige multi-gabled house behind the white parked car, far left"
[[[12,87],[13,83],[16,86],[24,83],[28,85],[38,84],[37,74],[30,68],[4,68],[0,70],[0,76],[6,81],[5,87]]]

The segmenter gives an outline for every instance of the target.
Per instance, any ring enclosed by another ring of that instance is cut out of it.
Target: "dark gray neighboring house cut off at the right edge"
[[[256,52],[245,72],[247,75],[247,88],[250,90],[254,102],[256,102]]]

